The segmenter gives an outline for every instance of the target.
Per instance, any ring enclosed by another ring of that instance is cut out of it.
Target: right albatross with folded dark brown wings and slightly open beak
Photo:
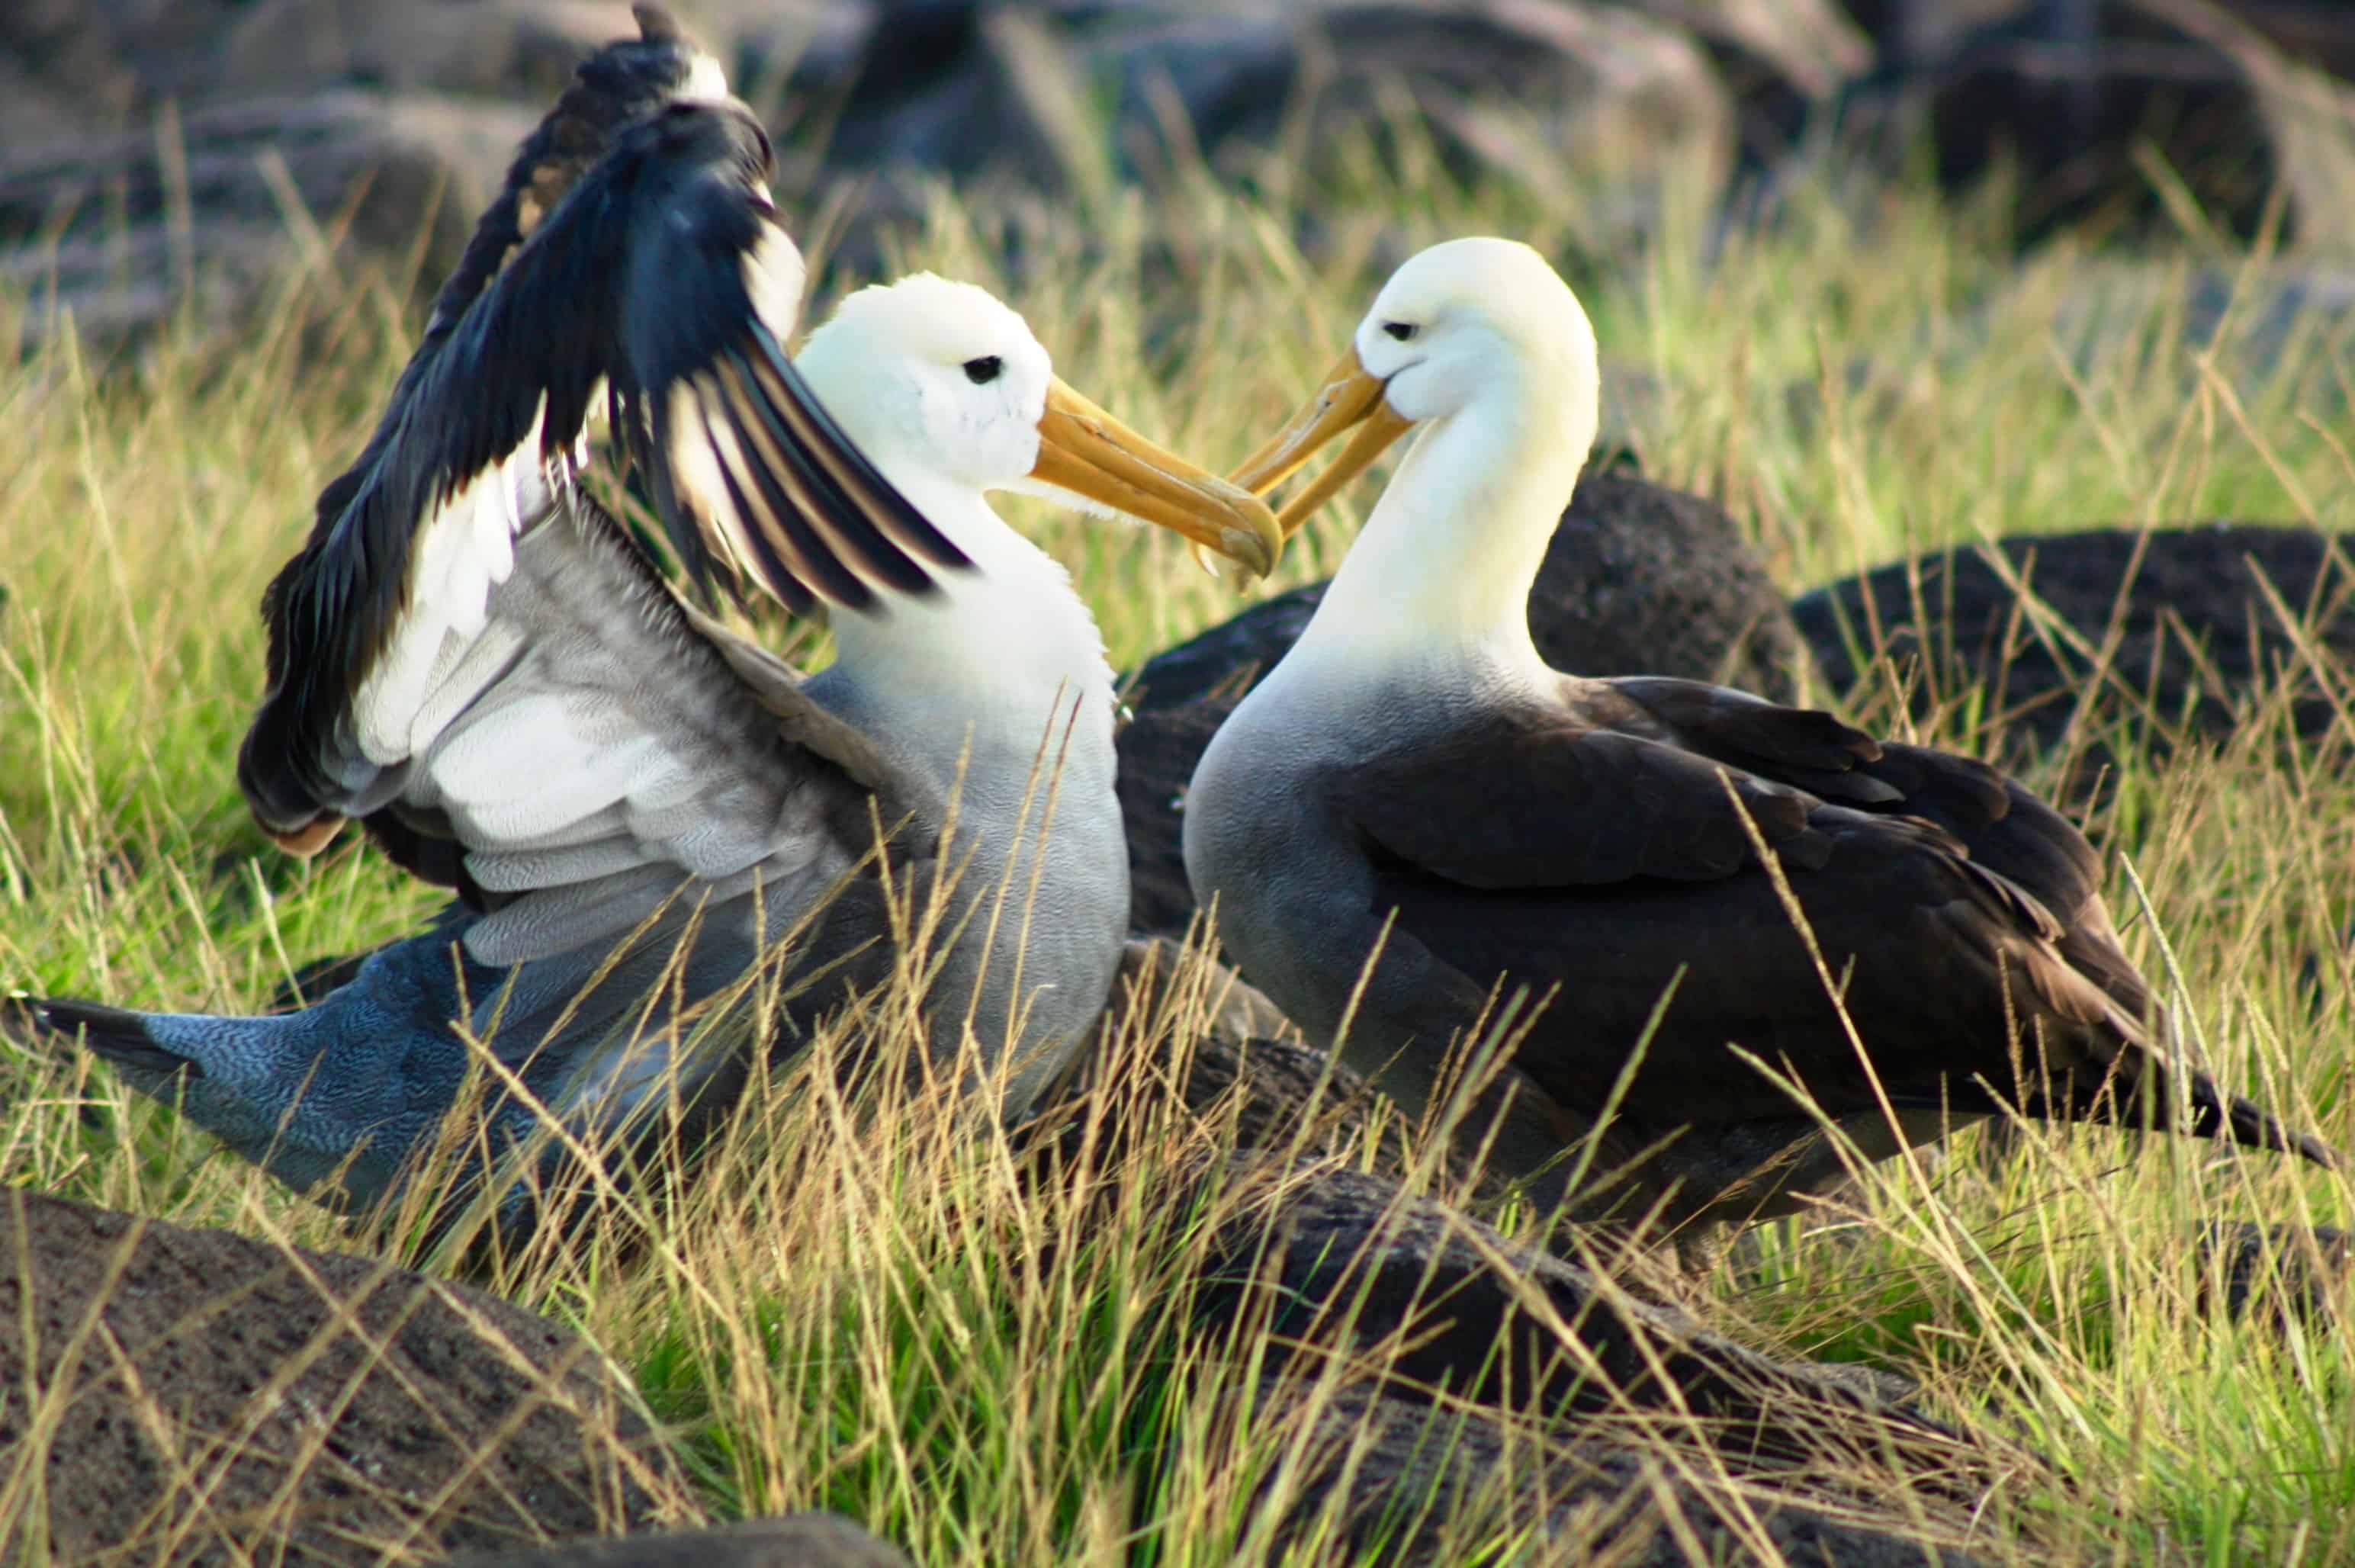
[[[2169,1062],[2091,845],[2016,782],[1830,713],[1538,657],[1524,603],[1597,391],[1594,332],[1552,266],[1455,240],[1389,278],[1324,388],[1234,473],[1265,492],[1354,431],[1283,506],[1295,527],[1422,426],[1307,631],[1194,772],[1187,876],[1246,977],[1309,1038],[1347,1017],[1347,1059],[1411,1109],[1491,989],[1528,986],[1491,1158],[1552,1161],[1543,1201],[1660,1010],[1587,1165],[1623,1180],[1575,1194],[1590,1220],[1700,1231],[1839,1180],[1818,1123],[1729,1043],[1804,1083],[1868,1156],[2002,1102],[2138,1121],[2150,1090],[2160,1128],[2334,1165]],[[1736,798],[1846,977],[1877,1085]]]

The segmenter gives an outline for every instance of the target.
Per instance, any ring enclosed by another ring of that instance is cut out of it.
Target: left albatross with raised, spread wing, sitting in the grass
[[[605,155],[499,242],[584,137]],[[662,1104],[671,1067],[709,1123],[754,1041],[735,982],[780,942],[780,986],[822,984],[768,1019],[777,1050],[914,972],[918,1043],[942,1064],[970,1043],[1006,1109],[1104,1003],[1128,913],[1112,671],[984,492],[1076,497],[1253,570],[1274,516],[1079,398],[968,285],[862,290],[789,363],[803,275],[765,172],[758,122],[676,33],[584,66],[264,600],[254,815],[299,850],[360,817],[464,904],[292,1015],[38,1008],[292,1187],[403,1184],[469,1069],[452,1022],[577,1128]],[[827,671],[692,610],[577,485],[605,398],[681,551],[822,607]],[[914,956],[895,935],[935,897]],[[492,1154],[535,1130],[506,1095],[487,1118]]]

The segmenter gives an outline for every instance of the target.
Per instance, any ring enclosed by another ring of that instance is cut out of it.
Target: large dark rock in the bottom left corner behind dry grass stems
[[[502,1300],[28,1191],[0,1257],[0,1443],[40,1434],[0,1464],[42,1467],[59,1563],[377,1563],[695,1516],[626,1377]]]

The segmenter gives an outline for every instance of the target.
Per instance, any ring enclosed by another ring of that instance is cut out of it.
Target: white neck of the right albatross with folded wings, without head
[[[1286,666],[1545,669],[1528,589],[1594,445],[1554,379],[1517,365],[1415,433]]]

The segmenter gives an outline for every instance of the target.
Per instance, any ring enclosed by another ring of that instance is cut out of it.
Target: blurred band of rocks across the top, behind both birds
[[[1293,181],[1406,141],[1578,200],[1599,250],[1660,193],[1752,217],[1839,160],[2002,174],[2021,245],[2251,235],[2355,250],[2355,5],[2339,0],[676,0],[780,139],[796,228],[862,266],[928,181],[1008,221],[1121,184]],[[12,0],[0,285],[19,339],[193,306],[287,264],[419,287],[622,0]],[[1312,219],[1298,219],[1309,226]],[[1316,233],[1300,235],[1314,254]],[[2306,264],[2313,266],[2310,261]],[[2355,280],[2296,278],[2298,299]],[[2087,306],[2098,313],[2098,306]]]

